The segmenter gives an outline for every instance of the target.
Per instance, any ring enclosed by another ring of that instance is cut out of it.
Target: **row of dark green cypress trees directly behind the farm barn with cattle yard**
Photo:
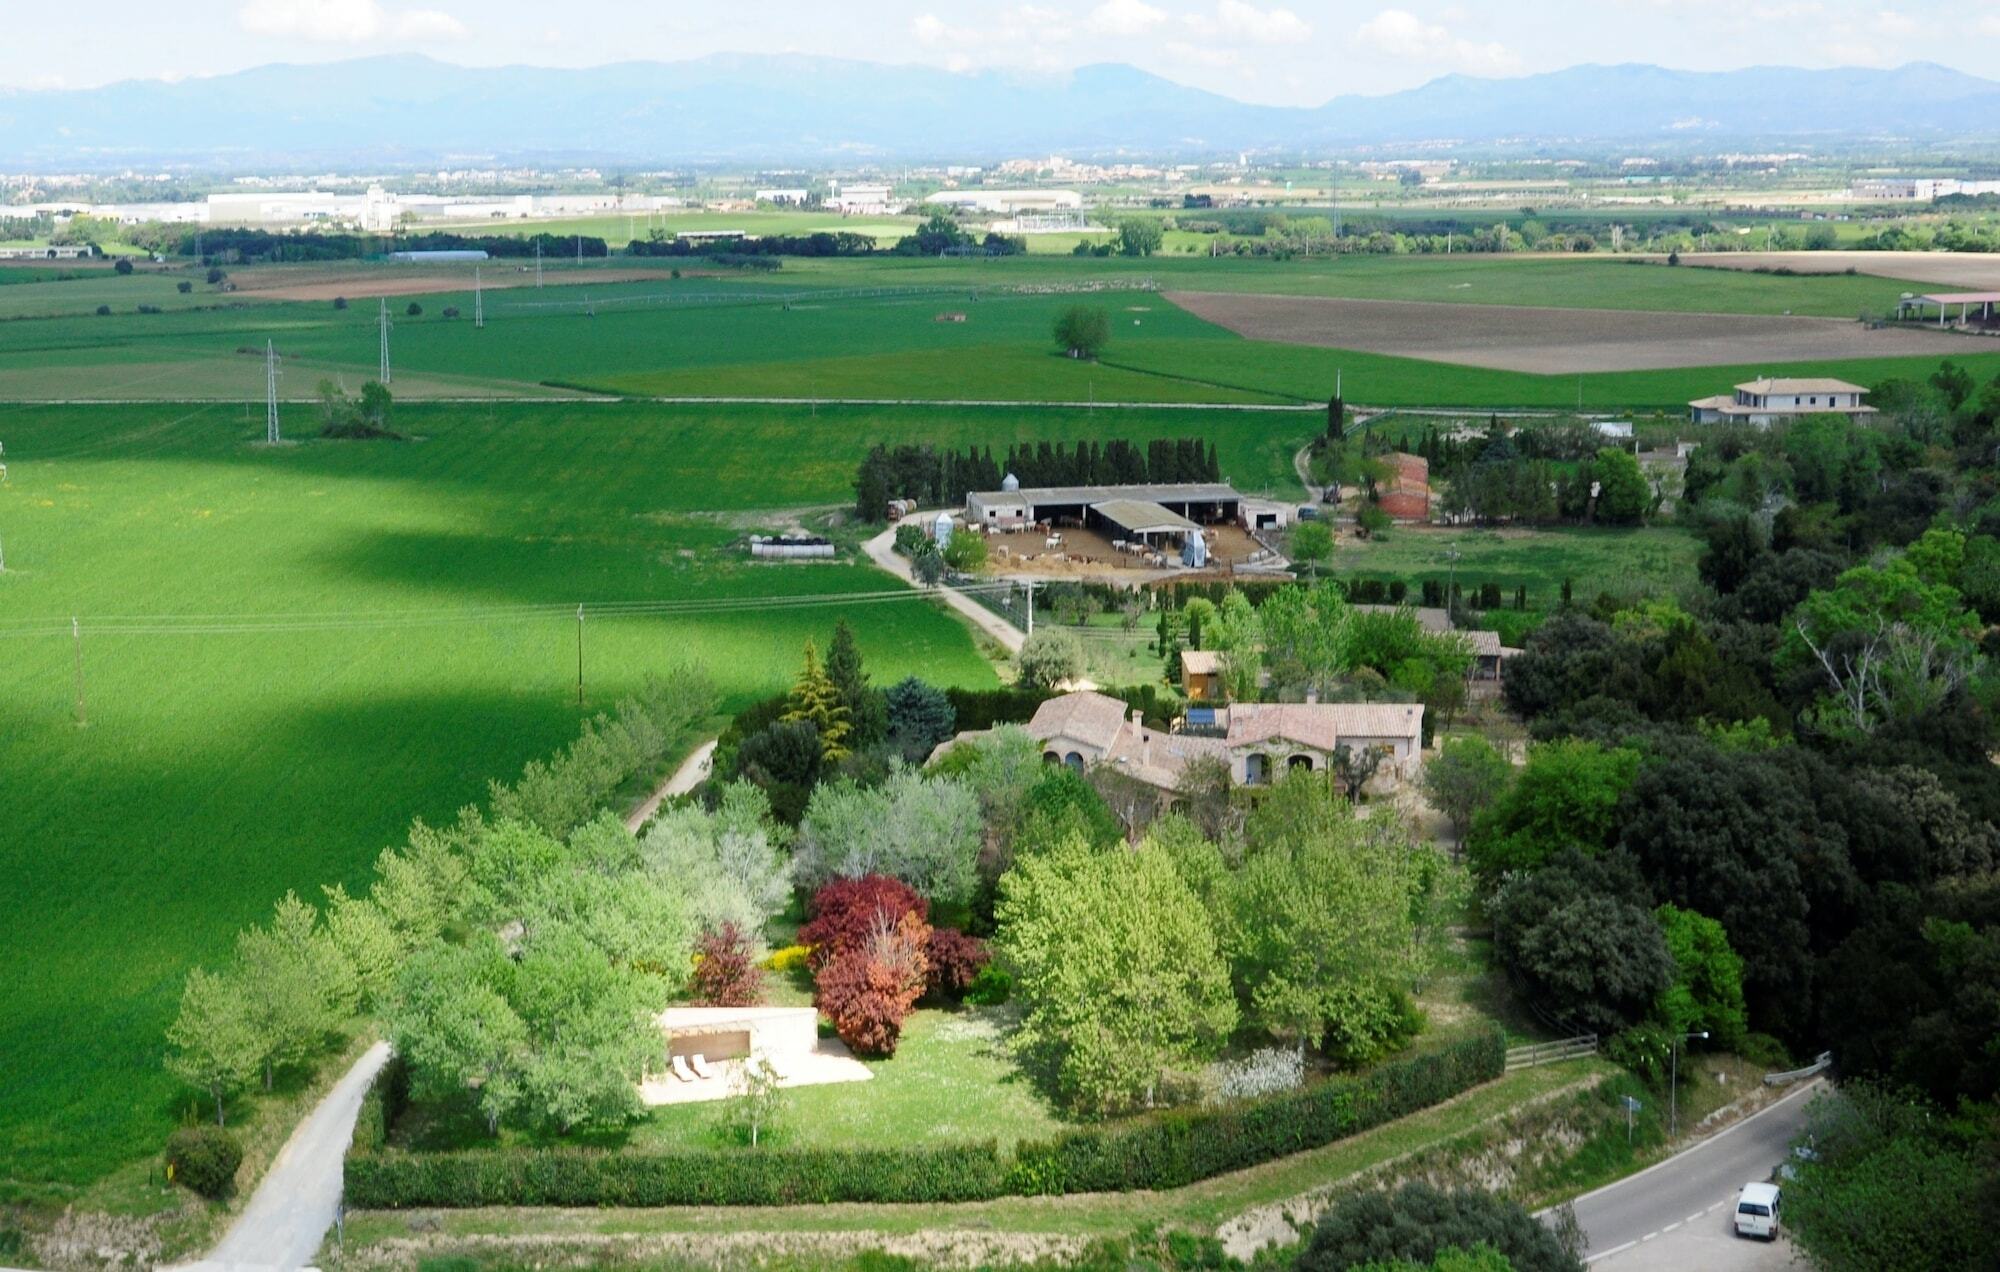
[[[962,504],[972,490],[998,490],[1006,474],[1022,486],[1146,486],[1172,482],[1220,482],[1222,460],[1214,442],[1200,438],[1152,438],[1136,442],[1012,444],[1004,460],[992,446],[968,446],[964,454],[936,446],[876,444],[854,474],[854,510],[866,522],[882,522],[894,498],[918,504]]]

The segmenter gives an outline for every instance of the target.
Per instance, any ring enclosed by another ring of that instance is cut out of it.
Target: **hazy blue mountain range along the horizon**
[[[422,56],[202,80],[0,90],[0,166],[366,160],[838,162],[1204,156],[1458,140],[1702,146],[2000,134],[2000,82],[1894,70],[1572,66],[1444,76],[1318,108],[1252,106],[1122,64],[1066,74],[716,54],[588,70]]]

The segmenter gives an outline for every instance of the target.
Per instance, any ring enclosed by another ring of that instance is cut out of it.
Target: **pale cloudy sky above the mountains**
[[[94,0],[8,16],[0,86],[88,88],[422,52],[594,66],[806,52],[952,70],[1130,62],[1246,102],[1318,106],[1440,74],[1578,62],[1688,70],[1928,60],[2000,76],[2000,0]]]

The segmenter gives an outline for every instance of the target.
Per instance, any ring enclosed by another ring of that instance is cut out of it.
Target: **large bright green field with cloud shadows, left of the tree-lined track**
[[[838,498],[840,462],[770,478],[796,448],[784,428],[690,446],[702,426],[660,410],[522,410],[412,412],[418,442],[278,450],[230,408],[0,414],[0,1190],[60,1196],[158,1150],[188,1104],[160,1052],[190,964],[286,888],[364,884],[412,816],[448,818],[576,734],[570,606],[894,586],[750,564],[742,528],[684,514]],[[204,630],[202,614],[292,618]],[[102,616],[182,626],[92,632]],[[680,662],[734,702],[766,694],[838,616],[878,678],[994,682],[928,602],[600,616],[590,710]]]

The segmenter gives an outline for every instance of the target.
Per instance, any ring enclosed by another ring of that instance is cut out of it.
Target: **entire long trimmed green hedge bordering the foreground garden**
[[[948,1148],[408,1154],[384,1148],[408,1080],[392,1060],[362,1102],[346,1160],[350,1206],[796,1206],[978,1202],[996,1196],[1180,1188],[1392,1122],[1506,1068],[1500,1034],[1384,1064],[1360,1078],[1224,1108],[1174,1110],[1024,1142]]]

